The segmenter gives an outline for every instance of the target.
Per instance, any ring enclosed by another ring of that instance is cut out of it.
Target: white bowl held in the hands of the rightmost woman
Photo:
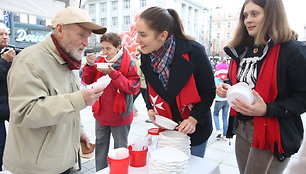
[[[231,86],[227,90],[226,96],[227,96],[226,98],[230,106],[233,105],[232,101],[235,100],[236,98],[248,104],[254,104],[255,102],[255,96],[252,92],[251,87],[249,87],[249,85],[247,85],[244,82],[239,82]]]

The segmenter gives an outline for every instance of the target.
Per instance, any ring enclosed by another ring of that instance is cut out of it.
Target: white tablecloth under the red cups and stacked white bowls
[[[109,168],[98,171],[96,174],[108,174]],[[149,166],[129,167],[129,174],[148,174]],[[219,166],[216,162],[204,158],[192,156],[189,159],[186,174],[220,174]]]

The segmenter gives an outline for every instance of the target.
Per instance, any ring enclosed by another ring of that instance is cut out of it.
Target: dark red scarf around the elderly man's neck
[[[60,55],[62,56],[62,58],[65,60],[66,63],[68,63],[68,68],[70,70],[74,70],[74,69],[80,69],[81,68],[81,60],[76,60],[74,58],[70,58],[59,46],[57,40],[55,39],[55,37],[53,36],[53,34],[51,34],[51,38],[53,40],[53,43],[57,49],[57,51],[60,53]]]

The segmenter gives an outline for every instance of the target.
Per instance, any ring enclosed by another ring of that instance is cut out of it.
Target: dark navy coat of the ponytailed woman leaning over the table
[[[175,42],[174,60],[170,65],[167,90],[162,86],[158,74],[153,71],[149,54],[141,55],[141,70],[147,83],[170,105],[172,117],[176,122],[182,121],[182,117],[177,109],[175,98],[190,76],[194,75],[201,101],[191,110],[190,115],[198,121],[198,124],[196,125],[196,131],[189,136],[191,137],[191,146],[196,146],[205,142],[212,133],[210,107],[215,98],[214,76],[205,48],[201,44],[179,38],[175,38]],[[189,55],[190,61],[182,57],[186,53]],[[152,109],[152,107],[149,106],[147,109]]]

